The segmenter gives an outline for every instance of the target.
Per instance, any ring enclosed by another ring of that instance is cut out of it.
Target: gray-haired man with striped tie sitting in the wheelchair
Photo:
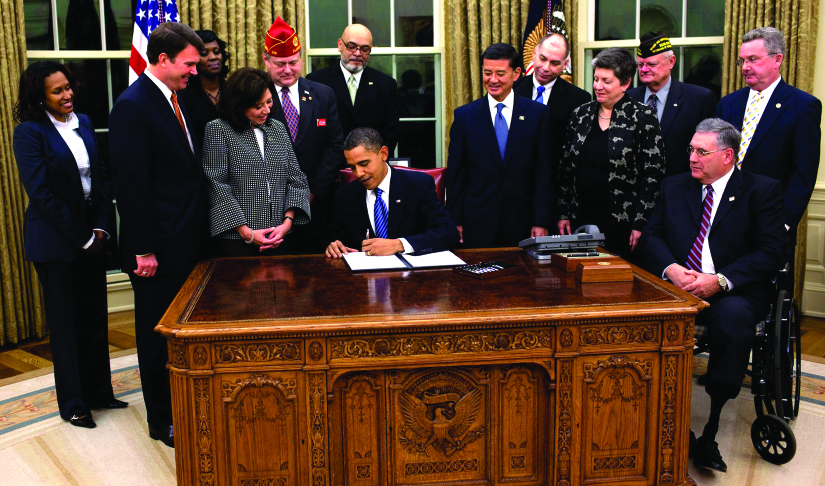
[[[691,172],[662,182],[640,241],[648,271],[710,303],[696,317],[710,345],[710,417],[693,462],[722,472],[719,417],[742,387],[755,325],[767,312],[770,277],[785,263],[788,242],[782,186],[734,168],[740,139],[718,118],[699,123],[689,147]]]

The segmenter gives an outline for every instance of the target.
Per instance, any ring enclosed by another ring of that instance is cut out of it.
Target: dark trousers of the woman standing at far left
[[[57,406],[68,420],[114,397],[105,255],[84,252],[73,262],[34,268],[43,286]]]

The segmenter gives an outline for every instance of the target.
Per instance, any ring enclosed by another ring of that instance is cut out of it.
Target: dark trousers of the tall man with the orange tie
[[[140,382],[146,403],[146,421],[152,427],[172,425],[172,395],[166,338],[155,332],[166,309],[175,299],[189,272],[136,277],[129,273],[135,291],[135,341]]]

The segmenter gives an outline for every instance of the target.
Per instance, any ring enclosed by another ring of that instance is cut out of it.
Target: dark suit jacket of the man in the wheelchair
[[[733,282],[732,294],[764,299],[766,284],[785,263],[782,187],[734,169],[721,197],[705,240],[716,272]],[[662,182],[639,242],[649,272],[661,276],[672,263],[685,266],[699,235],[702,206],[702,184],[689,173]]]

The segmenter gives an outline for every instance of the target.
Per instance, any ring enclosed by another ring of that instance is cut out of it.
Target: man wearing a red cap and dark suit
[[[332,193],[344,162],[344,136],[335,93],[301,77],[301,42],[280,17],[266,33],[264,64],[275,93],[269,115],[287,127],[292,149],[309,182],[312,220],[294,228],[298,253],[321,253],[329,241]]]

